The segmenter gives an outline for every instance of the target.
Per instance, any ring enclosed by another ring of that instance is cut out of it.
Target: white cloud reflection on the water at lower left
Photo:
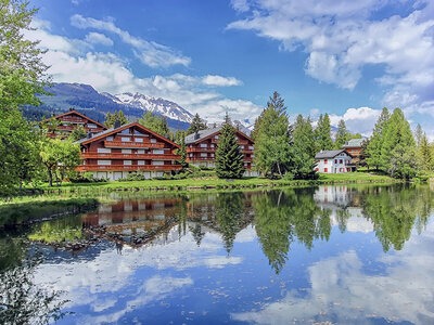
[[[177,229],[170,232],[177,232]],[[50,289],[64,291],[64,299],[72,301],[66,310],[89,306],[95,313],[104,314],[104,320],[97,317],[86,323],[116,322],[132,309],[132,304],[145,304],[149,301],[146,297],[159,299],[163,294],[192,284],[191,278],[164,277],[154,277],[142,284],[145,278],[138,272],[142,272],[144,268],[153,268],[154,271],[182,271],[197,266],[219,269],[242,261],[240,257],[227,257],[218,234],[207,234],[197,247],[191,233],[187,232],[179,240],[167,245],[144,246],[139,249],[125,247],[122,255],[113,248],[101,251],[93,260],[46,263],[38,268],[35,280]],[[107,296],[117,297],[131,286],[137,287],[138,291],[127,302],[126,310],[113,312],[117,301]]]

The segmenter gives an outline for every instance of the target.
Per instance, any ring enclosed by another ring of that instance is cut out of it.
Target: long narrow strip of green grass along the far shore
[[[176,191],[176,190],[204,190],[204,188],[254,188],[275,186],[299,186],[333,183],[376,183],[398,182],[386,176],[369,173],[342,173],[321,174],[316,181],[305,180],[269,180],[264,178],[243,178],[241,180],[220,180],[216,177],[183,179],[183,180],[146,180],[130,182],[101,182],[101,183],[63,183],[61,187],[44,185],[41,190],[46,193],[89,193],[112,191]]]

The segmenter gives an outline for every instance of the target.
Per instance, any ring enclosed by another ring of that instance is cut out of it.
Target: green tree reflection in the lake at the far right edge
[[[371,187],[366,192],[363,213],[372,221],[384,251],[400,250],[414,224],[422,231],[433,202],[433,192],[425,186]]]

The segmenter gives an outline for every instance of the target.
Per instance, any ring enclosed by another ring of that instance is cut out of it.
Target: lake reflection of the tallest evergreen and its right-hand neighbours
[[[253,198],[256,233],[276,273],[284,266],[295,238],[308,249],[315,238],[329,239],[330,211],[315,204],[312,191],[273,191]]]

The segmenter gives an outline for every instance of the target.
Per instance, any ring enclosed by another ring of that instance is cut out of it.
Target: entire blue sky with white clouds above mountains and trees
[[[209,122],[328,113],[369,135],[400,107],[434,140],[432,0],[30,0],[56,82],[174,101]]]

